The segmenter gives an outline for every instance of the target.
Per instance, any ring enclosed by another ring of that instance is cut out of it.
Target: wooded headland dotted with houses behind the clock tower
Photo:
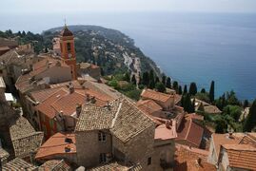
[[[51,47],[51,40],[57,36],[59,28],[50,28],[42,33],[44,43]],[[131,64],[135,57],[140,58],[142,72],[153,69],[160,75],[155,63],[134,46],[134,41],[124,33],[98,26],[69,26],[75,36],[78,62],[92,62],[102,66],[106,74],[124,72],[128,68],[136,70]]]

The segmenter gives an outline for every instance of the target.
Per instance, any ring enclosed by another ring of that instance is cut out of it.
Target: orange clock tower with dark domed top
[[[65,64],[70,66],[72,79],[76,80],[77,73],[76,73],[76,57],[75,57],[75,50],[74,50],[74,36],[66,24],[60,33],[60,48],[61,48],[61,59]]]

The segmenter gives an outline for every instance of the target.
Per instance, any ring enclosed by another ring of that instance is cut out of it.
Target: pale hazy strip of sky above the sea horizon
[[[256,12],[256,0],[1,0],[0,13]]]

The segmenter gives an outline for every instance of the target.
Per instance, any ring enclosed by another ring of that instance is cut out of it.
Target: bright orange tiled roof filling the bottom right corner
[[[256,170],[256,148],[249,144],[224,144],[229,166]]]

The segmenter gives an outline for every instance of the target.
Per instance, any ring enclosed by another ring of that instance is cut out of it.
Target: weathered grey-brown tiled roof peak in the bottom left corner
[[[12,171],[12,170],[26,170],[33,171],[37,170],[37,166],[30,164],[27,161],[23,161],[22,159],[15,158],[12,161],[9,161],[5,165],[3,165],[3,171]]]

